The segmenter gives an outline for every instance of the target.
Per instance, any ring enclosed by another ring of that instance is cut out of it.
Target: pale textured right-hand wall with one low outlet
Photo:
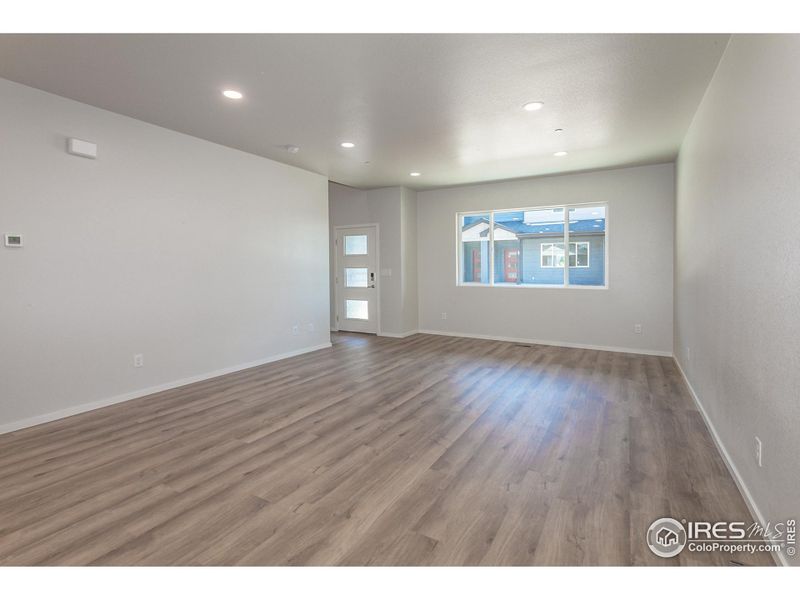
[[[797,36],[733,36],[677,167],[675,354],[773,523],[800,517],[798,65]]]

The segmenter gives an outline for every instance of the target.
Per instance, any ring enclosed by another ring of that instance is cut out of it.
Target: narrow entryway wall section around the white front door
[[[381,303],[379,333],[403,335],[416,330],[417,243],[414,192],[402,187],[359,190],[331,182],[329,198],[331,244],[334,227],[365,223],[377,223],[379,226],[378,286]],[[332,245],[331,252],[333,252]],[[333,273],[332,259],[331,273]],[[333,284],[331,284],[331,323],[335,323],[333,298]]]

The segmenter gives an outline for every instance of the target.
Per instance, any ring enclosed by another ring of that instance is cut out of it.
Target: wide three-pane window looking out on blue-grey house
[[[607,211],[586,204],[459,214],[458,283],[605,287]]]

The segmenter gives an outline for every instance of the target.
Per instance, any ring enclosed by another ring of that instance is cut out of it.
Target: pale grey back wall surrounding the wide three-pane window
[[[672,164],[470,185],[417,197],[421,330],[671,354]],[[580,202],[609,205],[609,289],[456,286],[456,213]],[[634,333],[636,323],[642,334]]]

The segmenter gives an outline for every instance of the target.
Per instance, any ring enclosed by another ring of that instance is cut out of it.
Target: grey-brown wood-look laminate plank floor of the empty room
[[[0,436],[0,564],[772,564],[672,359],[414,335]]]

